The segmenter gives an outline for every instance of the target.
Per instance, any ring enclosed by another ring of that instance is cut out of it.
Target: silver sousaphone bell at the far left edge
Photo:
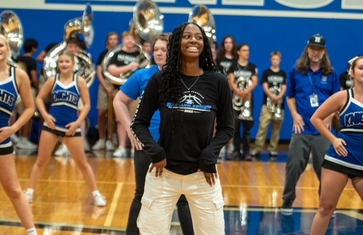
[[[5,10],[0,14],[0,34],[8,39],[10,47],[9,63],[17,67],[16,62],[11,58],[17,58],[20,55],[21,46],[23,46],[23,26],[19,16],[15,12]]]

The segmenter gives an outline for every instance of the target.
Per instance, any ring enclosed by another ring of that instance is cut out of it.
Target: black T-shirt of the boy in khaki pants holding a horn
[[[268,68],[262,73],[261,85],[264,82],[267,82],[269,84],[269,88],[272,88],[273,86],[280,87],[280,85],[286,84],[286,73],[281,69],[278,72],[273,72],[270,68]],[[267,102],[267,95],[264,92],[262,104],[265,105],[266,102]],[[284,109],[284,103],[285,103],[284,97],[282,97],[281,109]]]

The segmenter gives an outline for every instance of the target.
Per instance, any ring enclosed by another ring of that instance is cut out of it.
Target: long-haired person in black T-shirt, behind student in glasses
[[[221,41],[219,52],[217,54],[216,66],[217,69],[222,67],[225,76],[231,68],[232,62],[238,59],[236,40],[232,35],[226,35]]]

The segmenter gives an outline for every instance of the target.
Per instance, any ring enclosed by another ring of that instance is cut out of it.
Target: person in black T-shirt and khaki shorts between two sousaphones
[[[97,125],[98,125],[99,139],[92,146],[92,150],[101,150],[105,148],[108,151],[115,150],[112,141],[110,139],[107,139],[107,137],[105,137],[106,113],[107,109],[109,108],[109,94],[111,94],[112,91],[111,88],[112,84],[109,80],[103,77],[101,64],[107,52],[113,50],[115,46],[117,46],[117,44],[119,43],[119,40],[120,37],[118,33],[116,32],[108,33],[106,39],[106,50],[104,50],[103,52],[101,52],[101,54],[99,54],[97,60],[96,75],[99,81],[98,93],[97,93],[97,110],[98,110]]]

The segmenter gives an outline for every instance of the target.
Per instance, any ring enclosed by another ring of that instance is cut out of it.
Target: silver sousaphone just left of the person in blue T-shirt
[[[135,49],[140,52],[136,57],[136,62],[139,63],[139,69],[150,66],[151,58],[148,53],[142,50],[142,46],[138,44],[139,40],[137,40],[137,36],[148,42],[154,41],[164,30],[163,18],[164,16],[160,13],[158,6],[151,0],[139,0],[134,6],[134,14],[129,23],[129,31],[135,34]],[[129,71],[120,74],[119,77],[115,77],[107,71],[111,58],[115,53],[121,51],[122,47],[123,45],[120,44],[109,51],[103,58],[101,65],[105,78],[115,85],[124,84],[132,73],[135,72]]]

